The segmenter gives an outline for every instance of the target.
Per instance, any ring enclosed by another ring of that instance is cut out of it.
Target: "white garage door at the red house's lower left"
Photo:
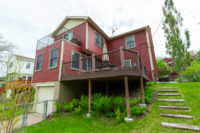
[[[36,107],[36,112],[37,113],[44,113],[44,102],[46,100],[53,100],[54,96],[54,91],[53,87],[41,87],[39,88],[39,93],[38,93],[38,103]],[[53,112],[53,101],[48,101],[48,106],[47,106],[47,114],[50,114]]]

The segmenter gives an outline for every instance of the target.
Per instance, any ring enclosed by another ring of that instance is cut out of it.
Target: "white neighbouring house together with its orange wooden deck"
[[[34,59],[21,55],[12,55],[7,65],[6,95],[10,97],[12,90],[26,89],[31,86]]]

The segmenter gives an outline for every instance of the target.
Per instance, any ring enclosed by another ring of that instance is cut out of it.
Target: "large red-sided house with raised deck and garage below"
[[[37,41],[35,59],[32,84],[37,101],[62,103],[80,94],[89,94],[91,100],[91,90],[123,92],[128,98],[140,84],[144,103],[143,82],[158,77],[149,26],[109,37],[90,17],[66,17],[52,34]],[[35,109],[42,112],[39,106]],[[53,104],[48,104],[48,113],[52,110]]]

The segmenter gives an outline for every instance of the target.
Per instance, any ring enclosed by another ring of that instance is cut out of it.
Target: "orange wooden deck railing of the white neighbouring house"
[[[15,80],[7,81],[5,89],[22,89],[29,88],[31,86],[31,80]]]

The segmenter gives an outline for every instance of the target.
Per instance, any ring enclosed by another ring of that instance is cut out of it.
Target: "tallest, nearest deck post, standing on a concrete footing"
[[[125,117],[124,120],[125,120],[126,122],[130,122],[130,121],[133,121],[133,119],[130,118],[128,76],[124,76],[124,84],[125,84],[126,111],[127,111],[127,117]]]

